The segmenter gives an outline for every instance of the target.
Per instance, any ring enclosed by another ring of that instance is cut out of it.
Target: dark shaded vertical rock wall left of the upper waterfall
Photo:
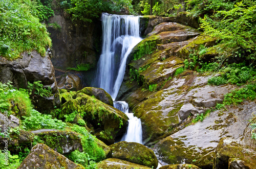
[[[54,16],[48,21],[48,25],[57,23],[61,27],[60,30],[55,30],[48,26],[52,39],[51,52],[54,67],[66,69],[81,63],[96,66],[100,52],[101,22],[94,20],[91,23],[75,25],[59,11],[55,10]]]

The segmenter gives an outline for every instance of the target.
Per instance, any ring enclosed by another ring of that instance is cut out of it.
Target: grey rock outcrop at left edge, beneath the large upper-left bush
[[[52,96],[45,98],[39,97],[35,107],[38,111],[47,111],[59,105],[58,87],[55,80],[54,68],[46,53],[45,57],[37,52],[31,52],[31,55],[24,53],[21,59],[8,61],[0,58],[0,79],[6,83],[13,82],[14,87],[26,88],[28,82],[41,81],[44,87],[52,88]]]

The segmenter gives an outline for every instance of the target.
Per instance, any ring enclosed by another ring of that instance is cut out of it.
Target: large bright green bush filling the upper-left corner
[[[0,3],[0,56],[17,59],[21,53],[33,50],[45,56],[51,46],[49,33],[33,15],[36,7],[30,0],[2,0]]]

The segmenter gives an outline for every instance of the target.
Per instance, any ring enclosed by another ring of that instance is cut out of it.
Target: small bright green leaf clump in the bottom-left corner
[[[8,160],[6,161],[5,156],[7,155]],[[11,155],[10,151],[0,151],[0,168],[2,169],[13,169],[20,165],[21,161],[18,155]]]

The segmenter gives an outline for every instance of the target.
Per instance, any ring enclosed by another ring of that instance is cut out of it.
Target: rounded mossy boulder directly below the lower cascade
[[[140,143],[120,141],[110,147],[113,149],[112,158],[154,168],[158,165],[155,153]]]

